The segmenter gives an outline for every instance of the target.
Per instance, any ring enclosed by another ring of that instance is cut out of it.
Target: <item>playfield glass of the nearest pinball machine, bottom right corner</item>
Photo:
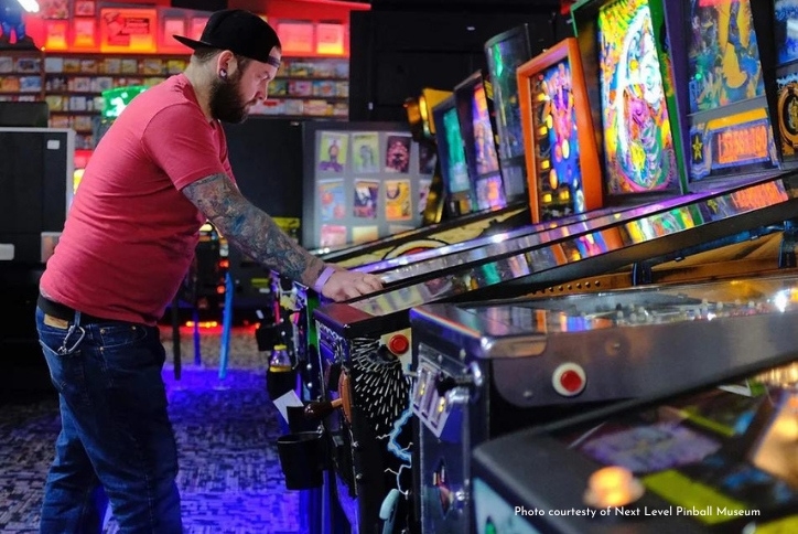
[[[796,376],[798,364],[787,364],[557,437],[602,466],[628,469],[669,505],[701,510],[684,514],[698,524],[718,530],[754,515],[764,526],[798,506]]]

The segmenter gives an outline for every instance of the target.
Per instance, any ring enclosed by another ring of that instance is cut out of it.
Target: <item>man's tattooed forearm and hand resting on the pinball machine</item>
[[[225,238],[261,265],[308,287],[313,287],[325,267],[333,267],[299,246],[225,174],[197,180],[186,185],[183,194]],[[379,278],[373,275],[338,269],[324,284],[323,295],[343,300],[380,287]]]

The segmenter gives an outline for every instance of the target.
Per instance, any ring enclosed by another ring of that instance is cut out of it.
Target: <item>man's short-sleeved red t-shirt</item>
[[[181,190],[223,172],[235,180],[224,130],[185,75],[137,96],[91,154],[42,276],[44,295],[90,316],[154,324],[205,222]]]

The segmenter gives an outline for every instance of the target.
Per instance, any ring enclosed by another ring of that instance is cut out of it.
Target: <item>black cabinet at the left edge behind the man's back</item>
[[[12,311],[0,327],[0,402],[54,393],[33,317],[39,279],[72,203],[74,151],[71,129],[0,127],[0,290]]]

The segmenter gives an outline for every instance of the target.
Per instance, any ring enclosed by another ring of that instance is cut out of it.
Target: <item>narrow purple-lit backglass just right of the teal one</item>
[[[482,73],[477,72],[459,84],[454,88],[454,99],[463,132],[465,161],[468,174],[473,177],[476,209],[504,207],[507,201]]]

